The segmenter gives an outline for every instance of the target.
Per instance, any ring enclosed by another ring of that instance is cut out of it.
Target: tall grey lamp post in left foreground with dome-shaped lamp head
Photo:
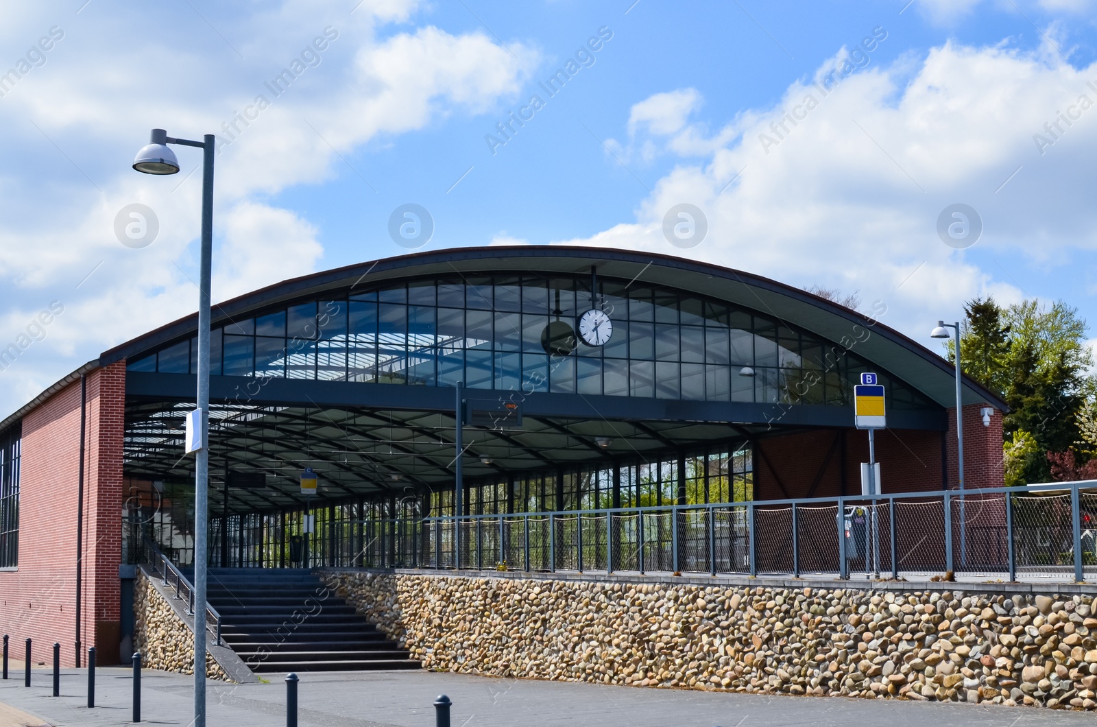
[[[203,141],[172,138],[162,128],[154,128],[148,145],[134,158],[134,169],[146,175],[174,175],[179,161],[168,144],[202,149],[202,251],[199,264],[199,374],[197,410],[201,436],[194,460],[194,720],[205,727],[206,660],[206,528],[210,474],[210,257],[213,251],[213,155],[214,135]]]

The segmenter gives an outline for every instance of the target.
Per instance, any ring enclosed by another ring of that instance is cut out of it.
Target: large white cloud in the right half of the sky
[[[855,72],[829,92],[798,81],[774,107],[744,112],[714,134],[732,141],[700,164],[683,158],[658,180],[635,224],[567,242],[693,256],[792,284],[859,290],[862,301],[887,305],[885,323],[921,337],[926,320],[959,312],[973,295],[1004,302],[1021,295],[972,255],[1010,251],[1045,266],[1058,249],[1097,247],[1097,213],[1086,201],[1097,165],[1097,108],[1081,112],[1073,126],[1060,122],[1058,141],[1042,155],[1033,142],[1081,94],[1097,102],[1097,64],[1078,70],[1042,51],[953,43],[918,60]],[[660,93],[633,107],[629,128],[636,118],[658,119],[670,134],[701,128],[699,105],[690,89]],[[679,118],[669,108],[691,114]],[[686,156],[672,136],[642,141]],[[973,205],[984,223],[970,253],[946,246],[936,232],[938,214],[953,202]],[[685,250],[661,231],[664,215],[679,203],[699,206],[709,222],[704,242]]]

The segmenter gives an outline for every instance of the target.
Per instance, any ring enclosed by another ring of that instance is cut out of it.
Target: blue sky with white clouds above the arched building
[[[152,127],[217,136],[215,302],[597,245],[856,293],[934,349],[976,297],[1097,325],[1097,0],[0,12],[0,416],[196,309],[201,152],[137,174]]]

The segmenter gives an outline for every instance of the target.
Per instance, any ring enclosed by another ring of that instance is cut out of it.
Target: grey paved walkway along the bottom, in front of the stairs
[[[4,722],[18,712],[0,711],[0,725],[124,725],[131,716],[127,669],[100,669],[95,695],[87,705],[87,672],[64,670],[61,696],[52,696],[50,672],[34,670],[32,686],[0,681],[0,703],[30,713],[34,720]],[[267,684],[210,682],[210,727],[279,727],[285,724],[282,675]],[[191,678],[146,671],[143,675],[144,722],[188,725]],[[453,701],[453,727],[1056,727],[1093,725],[1092,714],[1050,709],[937,704],[833,697],[767,697],[680,690],[599,686],[566,682],[504,680],[431,672],[357,672],[304,674],[299,683],[302,727],[430,727],[439,694]]]

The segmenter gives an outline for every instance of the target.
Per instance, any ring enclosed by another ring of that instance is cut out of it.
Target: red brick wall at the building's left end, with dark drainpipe
[[[113,642],[109,637],[116,635],[120,617],[125,362],[89,373],[87,390],[81,641],[110,663],[118,650],[116,637]],[[52,663],[57,641],[63,663],[75,663],[79,451],[77,381],[23,417],[19,567],[0,572],[0,631],[11,637],[15,658],[22,658],[30,637],[34,661]]]

